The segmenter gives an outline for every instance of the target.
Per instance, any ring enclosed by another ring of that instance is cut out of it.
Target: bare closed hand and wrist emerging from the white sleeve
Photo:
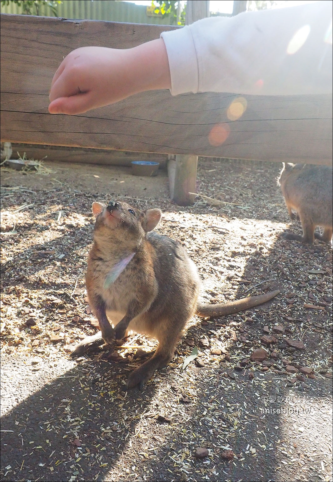
[[[81,114],[130,95],[170,89],[162,39],[132,49],[81,47],[63,60],[51,84],[51,114]]]

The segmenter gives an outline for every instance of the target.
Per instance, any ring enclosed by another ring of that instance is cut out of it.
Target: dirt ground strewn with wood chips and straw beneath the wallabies
[[[197,192],[215,205],[190,207],[169,200],[164,171],[1,167],[2,481],[332,480],[332,246],[281,238],[301,227],[280,167],[201,160]],[[206,302],[280,289],[247,312],[195,317],[173,361],[131,391],[154,340],[70,357],[96,332],[91,204],[123,199],[162,210],[157,230],[186,247]]]

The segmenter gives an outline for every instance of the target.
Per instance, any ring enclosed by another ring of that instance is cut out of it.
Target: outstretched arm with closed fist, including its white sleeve
[[[74,50],[55,73],[49,111],[80,114],[155,89],[330,94],[332,58],[332,1],[205,18],[132,49]]]

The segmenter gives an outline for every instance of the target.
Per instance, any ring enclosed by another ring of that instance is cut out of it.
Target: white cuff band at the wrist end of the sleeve
[[[189,27],[162,32],[168,54],[172,95],[193,92],[199,88],[197,54]]]

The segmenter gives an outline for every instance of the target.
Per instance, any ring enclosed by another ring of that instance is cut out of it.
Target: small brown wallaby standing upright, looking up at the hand
[[[159,209],[138,212],[125,202],[93,202],[96,218],[86,287],[100,332],[82,340],[72,355],[121,340],[134,330],[159,341],[155,354],[134,370],[128,387],[142,387],[173,357],[187,321],[226,316],[265,303],[279,290],[225,305],[198,303],[200,278],[185,249],[154,229]],[[112,321],[110,325],[108,318]]]

